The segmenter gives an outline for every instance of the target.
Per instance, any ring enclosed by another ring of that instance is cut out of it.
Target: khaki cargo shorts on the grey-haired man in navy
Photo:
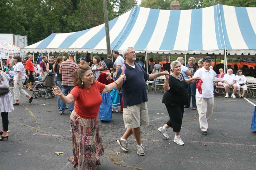
[[[123,110],[125,128],[138,128],[140,125],[149,125],[147,103],[127,106]]]

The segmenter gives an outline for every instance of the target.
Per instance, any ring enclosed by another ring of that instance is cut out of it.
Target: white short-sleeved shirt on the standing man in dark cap
[[[199,77],[203,80],[202,94],[196,88],[196,97],[212,98],[213,97],[213,82],[215,81],[215,71],[210,69],[206,70],[204,67],[196,70],[193,77]]]

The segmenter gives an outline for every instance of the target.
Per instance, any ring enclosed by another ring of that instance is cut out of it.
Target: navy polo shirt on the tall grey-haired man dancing
[[[121,87],[123,96],[123,107],[134,106],[142,102],[148,101],[146,81],[148,74],[143,70],[138,63],[135,63],[135,69],[125,64],[126,81],[123,82]],[[122,68],[118,69],[116,78],[117,80],[122,73]]]

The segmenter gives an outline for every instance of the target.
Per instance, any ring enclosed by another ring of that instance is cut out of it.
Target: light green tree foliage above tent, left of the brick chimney
[[[141,7],[170,10],[170,3],[172,0],[142,0]]]

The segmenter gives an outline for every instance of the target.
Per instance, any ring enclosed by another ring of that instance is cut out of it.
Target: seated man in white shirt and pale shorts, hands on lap
[[[228,88],[229,87],[234,88],[231,97],[236,98],[236,96],[235,96],[235,92],[237,90],[236,80],[237,80],[236,75],[233,74],[233,70],[228,69],[228,74],[225,74],[224,77],[223,77],[224,87],[225,87],[225,92],[226,92],[226,95],[225,95],[226,98],[228,98]]]

